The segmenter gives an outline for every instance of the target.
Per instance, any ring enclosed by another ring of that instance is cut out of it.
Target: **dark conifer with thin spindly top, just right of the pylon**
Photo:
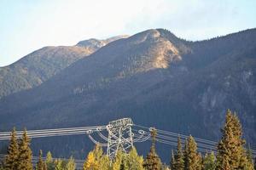
[[[143,163],[143,167],[146,170],[160,170],[160,168],[161,168],[160,158],[156,154],[156,151],[155,151],[156,134],[157,134],[156,129],[152,129],[152,131],[151,131],[152,145],[151,145],[150,151],[148,152],[148,155],[146,156],[146,159]]]

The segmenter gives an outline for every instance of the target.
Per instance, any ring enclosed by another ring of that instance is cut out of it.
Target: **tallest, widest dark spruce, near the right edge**
[[[222,139],[218,143],[217,170],[220,169],[253,169],[248,161],[244,148],[245,140],[241,139],[241,123],[236,114],[230,110],[226,113]]]

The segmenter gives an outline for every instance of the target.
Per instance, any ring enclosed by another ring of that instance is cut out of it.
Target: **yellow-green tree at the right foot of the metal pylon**
[[[143,170],[143,156],[137,155],[135,147],[125,156],[125,167],[126,169]]]

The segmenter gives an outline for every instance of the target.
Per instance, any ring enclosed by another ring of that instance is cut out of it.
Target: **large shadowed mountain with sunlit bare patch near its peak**
[[[0,129],[84,127],[131,117],[144,126],[217,140],[230,108],[254,149],[255,75],[256,29],[198,42],[164,29],[143,31],[108,43],[37,88],[1,99]],[[84,147],[75,141],[59,153]]]

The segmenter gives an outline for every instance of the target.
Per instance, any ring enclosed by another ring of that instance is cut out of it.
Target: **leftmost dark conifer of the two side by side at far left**
[[[19,144],[16,139],[15,127],[11,133],[9,142],[8,155],[5,157],[4,168],[6,170],[16,170],[19,166]]]

